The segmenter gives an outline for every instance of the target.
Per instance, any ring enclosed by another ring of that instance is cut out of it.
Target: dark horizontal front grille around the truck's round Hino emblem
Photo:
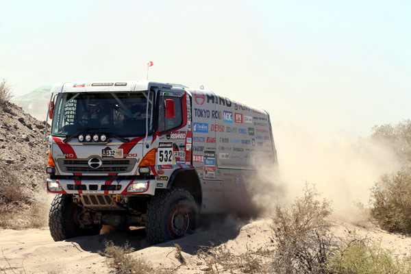
[[[129,173],[136,164],[136,159],[102,159],[98,169],[88,166],[88,159],[58,159],[62,172],[69,173]]]

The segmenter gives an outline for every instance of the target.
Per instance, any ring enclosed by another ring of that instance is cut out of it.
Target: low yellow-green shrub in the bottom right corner
[[[410,262],[399,260],[379,242],[353,238],[340,243],[327,260],[327,271],[334,274],[407,274]]]

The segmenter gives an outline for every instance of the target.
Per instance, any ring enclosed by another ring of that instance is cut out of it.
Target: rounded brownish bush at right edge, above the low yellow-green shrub
[[[388,232],[411,234],[411,174],[382,175],[371,188],[371,218]]]

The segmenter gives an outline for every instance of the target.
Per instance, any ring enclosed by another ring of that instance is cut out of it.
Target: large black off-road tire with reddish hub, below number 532
[[[147,206],[149,242],[158,244],[193,232],[198,223],[198,212],[194,198],[184,188],[172,187],[155,194]]]

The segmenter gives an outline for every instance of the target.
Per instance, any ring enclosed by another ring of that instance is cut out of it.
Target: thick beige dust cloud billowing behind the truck
[[[355,222],[362,214],[358,203],[369,206],[370,190],[379,177],[401,168],[395,153],[369,136],[310,132],[282,123],[273,123],[273,136],[279,173],[263,168],[258,184],[247,189],[253,203],[264,208],[260,216],[273,216],[277,202],[294,202],[307,184],[315,186],[320,199],[332,201],[334,216]]]

